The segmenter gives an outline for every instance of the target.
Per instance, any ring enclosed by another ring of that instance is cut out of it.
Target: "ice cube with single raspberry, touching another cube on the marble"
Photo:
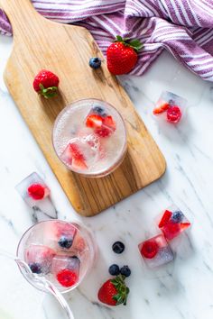
[[[162,234],[154,236],[138,245],[141,256],[148,268],[155,268],[173,260],[171,247]]]

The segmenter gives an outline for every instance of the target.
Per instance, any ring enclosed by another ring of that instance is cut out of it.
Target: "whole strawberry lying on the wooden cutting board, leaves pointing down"
[[[56,95],[59,83],[59,77],[47,69],[42,69],[33,80],[33,88],[38,94],[49,98]]]

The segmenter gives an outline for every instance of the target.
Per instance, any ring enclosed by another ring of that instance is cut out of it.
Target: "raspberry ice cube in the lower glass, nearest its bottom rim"
[[[51,274],[62,287],[72,287],[78,283],[79,269],[77,256],[56,255],[52,260]]]

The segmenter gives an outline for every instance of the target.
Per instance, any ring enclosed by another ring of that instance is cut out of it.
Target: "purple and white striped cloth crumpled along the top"
[[[8,0],[9,1],[9,0]],[[142,75],[163,49],[192,72],[213,81],[213,0],[32,0],[59,23],[86,27],[106,54],[117,34],[144,43],[131,72]],[[5,14],[0,29],[11,34]]]

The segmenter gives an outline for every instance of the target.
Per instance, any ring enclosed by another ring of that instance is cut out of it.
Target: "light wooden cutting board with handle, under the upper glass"
[[[160,178],[165,160],[125,90],[106,68],[88,66],[102,53],[88,30],[43,18],[30,0],[0,0],[14,32],[14,49],[5,68],[5,84],[35,140],[75,210],[92,216]],[[60,77],[60,95],[50,100],[32,90],[42,68]],[[128,152],[125,161],[106,178],[83,178],[66,169],[51,143],[51,130],[60,110],[71,102],[95,97],[115,105],[125,118]]]

